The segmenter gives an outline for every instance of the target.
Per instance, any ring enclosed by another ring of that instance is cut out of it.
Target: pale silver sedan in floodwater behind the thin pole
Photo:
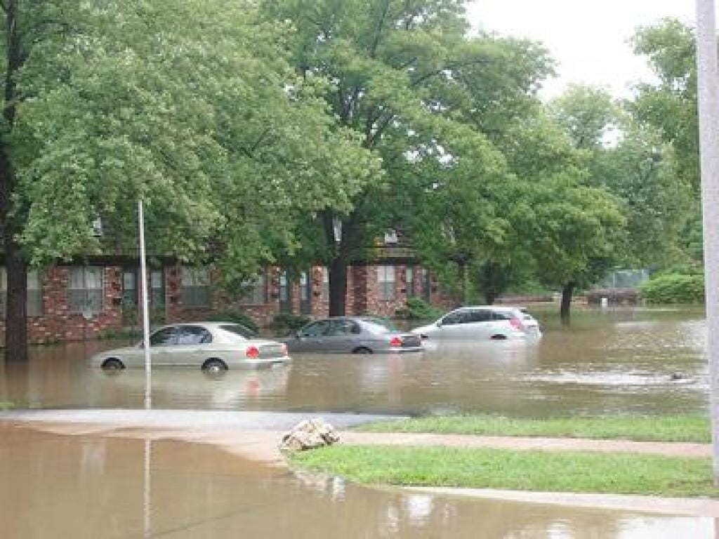
[[[255,337],[249,329],[231,322],[193,322],[164,326],[150,335],[153,367],[200,367],[206,372],[270,367],[290,360],[287,346]],[[106,350],[90,359],[94,367],[144,367],[142,343]]]

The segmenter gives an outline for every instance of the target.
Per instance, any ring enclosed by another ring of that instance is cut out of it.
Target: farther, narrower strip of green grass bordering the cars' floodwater
[[[515,419],[497,415],[457,415],[380,421],[359,430],[375,433],[442,433],[482,436],[544,436],[661,442],[709,443],[709,419],[702,415],[616,416],[605,418]]]

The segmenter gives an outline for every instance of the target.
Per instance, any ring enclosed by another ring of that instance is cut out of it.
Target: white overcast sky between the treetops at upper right
[[[628,97],[632,83],[651,80],[628,43],[636,27],[663,17],[694,26],[695,0],[470,0],[467,13],[477,29],[544,43],[559,76],[545,83],[542,96],[583,83]]]

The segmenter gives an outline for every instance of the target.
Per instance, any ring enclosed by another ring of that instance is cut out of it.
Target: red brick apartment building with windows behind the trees
[[[411,249],[385,244],[372,248],[371,263],[347,271],[347,314],[393,316],[407,298],[451,305],[436,278],[414,262]],[[27,325],[32,343],[78,341],[100,333],[137,326],[139,261],[134,257],[98,257],[83,264],[56,265],[40,275],[28,273]],[[241,300],[229,300],[213,287],[206,267],[187,267],[165,260],[148,268],[148,295],[154,323],[199,321],[211,313],[238,310],[260,325],[279,313],[321,318],[329,311],[329,276],[311,267],[290,277],[267,267],[248,283]],[[6,273],[0,267],[0,313],[4,314]],[[0,342],[5,325],[0,320]]]

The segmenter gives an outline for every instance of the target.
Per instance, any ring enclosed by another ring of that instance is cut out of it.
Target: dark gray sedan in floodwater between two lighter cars
[[[292,352],[375,354],[421,351],[420,336],[403,333],[383,318],[338,316],[308,323],[285,341]]]

